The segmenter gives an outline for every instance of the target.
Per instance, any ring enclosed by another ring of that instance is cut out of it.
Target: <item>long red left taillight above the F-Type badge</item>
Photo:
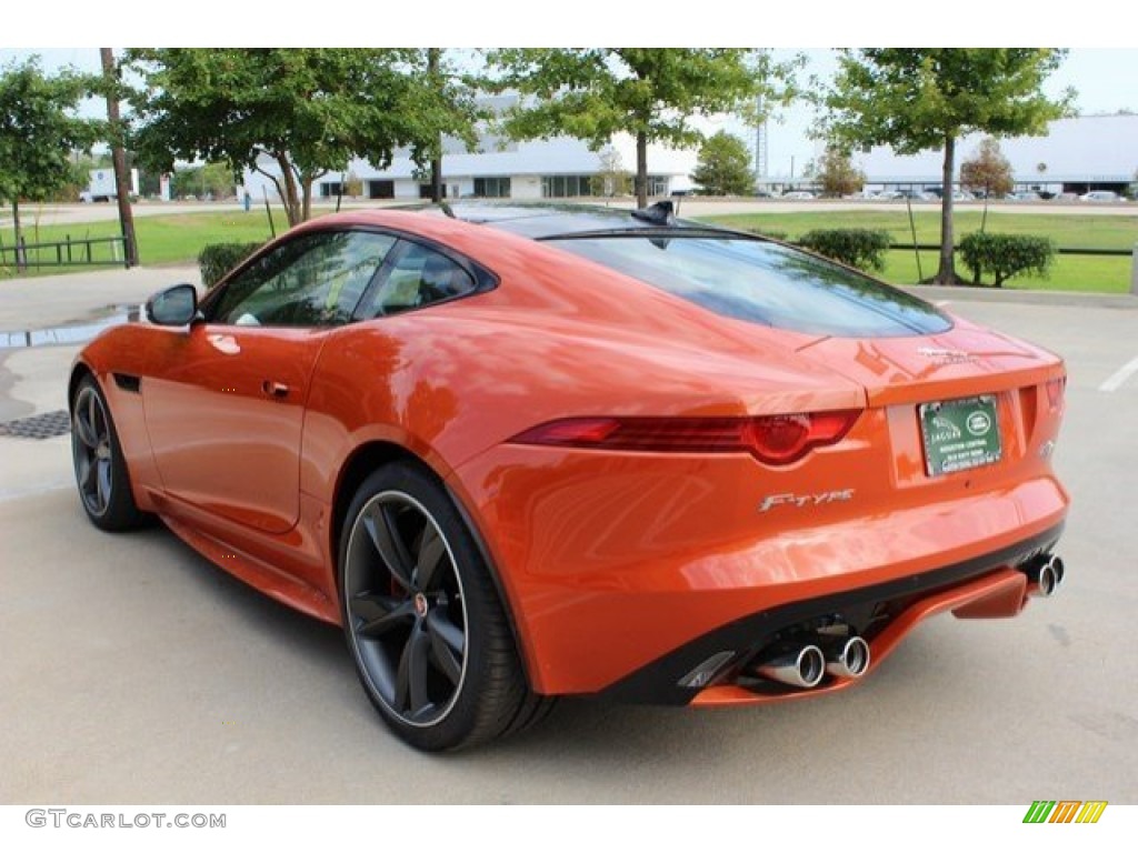
[[[511,439],[518,445],[653,453],[747,452],[768,465],[789,465],[815,447],[841,441],[856,409],[761,417],[570,417]]]

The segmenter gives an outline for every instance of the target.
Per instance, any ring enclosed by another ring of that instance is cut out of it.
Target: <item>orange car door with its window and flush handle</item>
[[[299,454],[313,367],[395,243],[315,231],[262,255],[166,338],[142,383],[167,498],[272,533],[299,515]]]

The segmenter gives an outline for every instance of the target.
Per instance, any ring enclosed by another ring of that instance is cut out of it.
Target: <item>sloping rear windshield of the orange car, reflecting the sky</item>
[[[951,328],[927,303],[851,270],[761,240],[648,234],[551,238],[580,255],[726,317],[841,338]]]

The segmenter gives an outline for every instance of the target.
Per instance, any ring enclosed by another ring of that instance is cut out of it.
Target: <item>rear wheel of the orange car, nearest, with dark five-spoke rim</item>
[[[481,553],[423,469],[386,465],[340,536],[344,631],[369,699],[418,750],[505,734],[534,701]]]

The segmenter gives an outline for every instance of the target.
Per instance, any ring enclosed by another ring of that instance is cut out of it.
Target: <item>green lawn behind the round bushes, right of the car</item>
[[[918,243],[940,241],[940,210],[914,210]],[[956,238],[980,230],[980,210],[959,210],[955,215]],[[908,214],[904,206],[882,210],[834,210],[818,213],[741,214],[709,216],[708,222],[728,227],[786,234],[794,240],[814,229],[859,227],[889,231],[896,242],[912,243]],[[1038,234],[1052,238],[1059,248],[1123,249],[1130,251],[1138,241],[1138,215],[1087,216],[1070,214],[1025,214],[1006,207],[988,213],[987,230],[1006,234]],[[921,272],[927,279],[937,272],[934,251],[921,252]],[[1129,255],[1097,257],[1059,255],[1046,279],[1015,278],[1004,284],[1020,290],[1070,290],[1098,293],[1130,292],[1132,260]],[[963,268],[957,272],[967,275]],[[918,281],[917,262],[913,251],[890,251],[882,278],[896,284]]]

